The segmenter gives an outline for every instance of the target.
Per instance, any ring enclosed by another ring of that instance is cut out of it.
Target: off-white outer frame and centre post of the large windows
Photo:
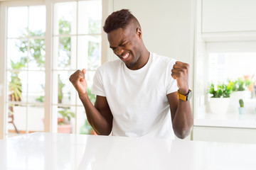
[[[57,132],[57,114],[52,114],[52,77],[53,77],[53,4],[56,2],[86,1],[86,0],[38,0],[38,1],[0,1],[0,139],[6,138],[6,9],[9,6],[36,6],[46,5],[46,84],[45,84],[45,132]],[[113,0],[102,0],[102,26],[105,18],[113,11]],[[107,35],[102,30],[102,64],[114,60],[112,50],[110,50]],[[76,130],[78,131],[78,130]]]

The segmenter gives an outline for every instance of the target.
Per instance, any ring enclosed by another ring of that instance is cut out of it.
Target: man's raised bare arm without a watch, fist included
[[[113,116],[107,103],[107,98],[97,96],[95,106],[92,105],[87,95],[87,82],[85,80],[85,69],[77,70],[70,76],[70,81],[78,91],[80,100],[85,107],[87,120],[98,135],[110,135],[112,130]]]

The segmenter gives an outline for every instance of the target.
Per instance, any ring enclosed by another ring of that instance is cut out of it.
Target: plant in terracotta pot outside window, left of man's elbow
[[[64,108],[63,111],[58,111],[61,115],[58,118],[58,132],[60,133],[70,133],[72,130],[72,125],[70,123],[71,118],[75,118],[75,113],[70,111],[68,108]]]

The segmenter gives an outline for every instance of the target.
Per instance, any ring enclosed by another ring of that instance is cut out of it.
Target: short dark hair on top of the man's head
[[[120,11],[115,11],[107,17],[105,21],[105,26],[103,30],[105,33],[110,33],[112,30],[117,30],[118,28],[126,28],[129,23],[135,22],[139,28],[139,21],[134,15],[129,11],[129,9],[122,9]]]

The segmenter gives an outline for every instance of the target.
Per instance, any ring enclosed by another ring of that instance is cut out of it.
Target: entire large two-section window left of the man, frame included
[[[69,77],[77,69],[87,69],[87,91],[94,103],[90,88],[102,64],[102,1],[4,1],[1,13],[5,11],[0,32],[4,58],[0,86],[5,89],[0,116],[6,121],[0,138],[45,130],[90,133]]]

